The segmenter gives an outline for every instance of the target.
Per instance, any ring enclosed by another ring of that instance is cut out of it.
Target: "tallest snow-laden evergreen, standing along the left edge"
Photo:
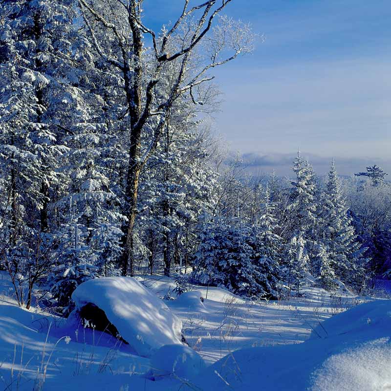
[[[1,228],[8,231],[1,253],[14,259],[9,271],[25,275],[30,294],[32,281],[39,282],[53,260],[49,207],[58,198],[58,161],[65,152],[52,100],[54,69],[62,64],[48,54],[71,23],[61,1],[6,0],[0,12],[0,176],[8,184],[0,195],[6,197]]]

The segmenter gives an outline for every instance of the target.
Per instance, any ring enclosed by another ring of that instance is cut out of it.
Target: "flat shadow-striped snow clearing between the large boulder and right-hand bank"
[[[164,276],[139,280],[161,297],[175,286]],[[361,302],[352,295],[330,296],[320,288],[304,288],[304,297],[268,303],[246,302],[216,287],[194,289],[207,297],[203,304],[193,292],[166,304],[182,320],[190,346],[208,363],[241,348],[304,342],[319,322]]]

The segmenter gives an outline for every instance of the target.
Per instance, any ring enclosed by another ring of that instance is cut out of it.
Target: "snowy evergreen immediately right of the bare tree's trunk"
[[[209,135],[195,120],[194,108],[173,110],[170,124],[140,177],[138,209],[148,258],[161,254],[164,272],[189,265],[196,251],[198,219],[212,213],[216,172],[208,152]],[[152,237],[160,238],[156,245]],[[152,258],[151,258],[152,257]]]

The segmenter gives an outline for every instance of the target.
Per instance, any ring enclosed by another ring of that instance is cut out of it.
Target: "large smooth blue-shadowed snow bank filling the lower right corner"
[[[205,369],[207,390],[391,389],[391,301],[357,305],[317,326],[301,344],[237,350]]]

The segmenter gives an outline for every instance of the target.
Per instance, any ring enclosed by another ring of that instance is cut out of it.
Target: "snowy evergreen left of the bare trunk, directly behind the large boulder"
[[[79,283],[118,274],[122,237],[120,200],[109,179],[115,169],[110,159],[114,154],[112,133],[102,109],[105,103],[82,88],[70,90],[72,95],[65,104],[72,116],[64,124],[67,152],[60,168],[68,183],[65,195],[56,203],[59,265],[53,281],[48,282],[65,312]]]

